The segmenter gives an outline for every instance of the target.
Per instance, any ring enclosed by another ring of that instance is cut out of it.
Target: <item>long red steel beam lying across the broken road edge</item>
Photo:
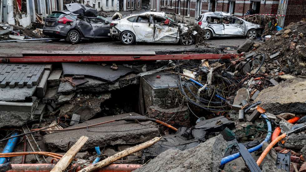
[[[155,60],[202,60],[202,59],[231,59],[241,54],[175,54],[154,56],[23,56],[0,57],[0,63],[45,63],[45,62],[90,62],[90,61],[155,61]]]

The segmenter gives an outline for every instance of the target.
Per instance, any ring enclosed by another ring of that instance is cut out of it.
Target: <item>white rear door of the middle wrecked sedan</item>
[[[154,41],[154,25],[153,21],[150,22],[150,17],[138,16],[136,22],[133,22],[132,27],[139,42]]]

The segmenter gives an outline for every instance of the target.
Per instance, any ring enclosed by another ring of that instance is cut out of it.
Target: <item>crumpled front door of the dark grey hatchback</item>
[[[110,25],[108,22],[100,18],[91,18],[90,24],[95,38],[108,37],[107,34],[110,33]]]

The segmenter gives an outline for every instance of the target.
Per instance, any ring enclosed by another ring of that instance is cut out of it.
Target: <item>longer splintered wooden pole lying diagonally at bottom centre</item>
[[[90,166],[80,170],[79,172],[91,172],[91,171],[94,171],[94,170],[98,170],[102,167],[105,167],[106,165],[109,165],[109,164],[115,162],[116,160],[120,160],[121,158],[126,157],[127,155],[130,155],[130,154],[135,153],[139,150],[143,150],[143,149],[145,149],[145,148],[147,148],[151,145],[154,145],[160,139],[161,139],[161,137],[155,137],[154,139],[146,141],[145,143],[142,143],[140,145],[136,145],[134,147],[123,150],[123,151],[121,151],[119,153],[116,153],[115,155],[110,156],[110,157],[106,158],[105,160],[102,160],[102,161],[100,161],[100,162],[98,162],[94,165],[90,165]]]

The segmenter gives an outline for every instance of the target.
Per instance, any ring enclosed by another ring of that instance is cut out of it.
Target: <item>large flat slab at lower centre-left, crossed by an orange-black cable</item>
[[[120,119],[126,116],[130,116],[130,114],[133,116],[141,116],[136,113],[106,116],[89,120],[86,123],[77,124],[68,128],[75,128],[109,120]],[[86,150],[92,149],[101,143],[103,143],[103,145],[139,144],[160,135],[159,129],[155,123],[146,121],[140,122],[140,124],[126,121],[116,121],[98,125],[96,127],[89,128],[88,130],[81,129],[55,132],[45,135],[44,142],[51,148],[59,148],[61,150],[67,151],[69,149],[67,145],[73,145],[82,135],[84,135],[89,137],[88,141],[82,147],[82,150]]]

